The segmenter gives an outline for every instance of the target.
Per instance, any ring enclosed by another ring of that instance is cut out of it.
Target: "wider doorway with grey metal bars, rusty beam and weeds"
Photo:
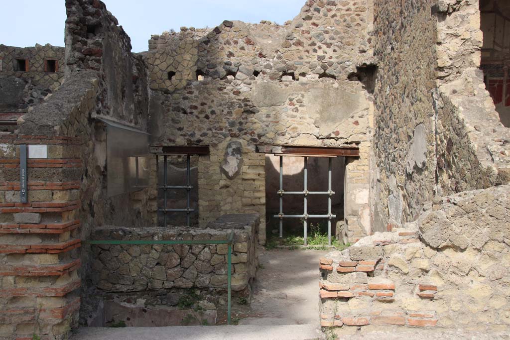
[[[266,153],[268,247],[342,246],[346,156],[357,148],[258,146]]]

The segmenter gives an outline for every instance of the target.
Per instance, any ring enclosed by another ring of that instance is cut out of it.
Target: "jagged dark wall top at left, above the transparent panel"
[[[100,73],[103,99],[93,116],[145,129],[146,66],[131,53],[130,37],[103,2],[67,0],[66,11],[66,72]]]

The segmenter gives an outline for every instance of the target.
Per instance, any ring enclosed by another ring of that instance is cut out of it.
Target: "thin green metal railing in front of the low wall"
[[[228,294],[228,306],[227,306],[227,323],[232,324],[232,246],[234,244],[234,231],[230,233],[227,240],[203,240],[203,241],[186,241],[186,240],[91,240],[82,241],[82,244],[127,244],[127,245],[139,245],[139,244],[226,244],[227,245],[227,294]]]

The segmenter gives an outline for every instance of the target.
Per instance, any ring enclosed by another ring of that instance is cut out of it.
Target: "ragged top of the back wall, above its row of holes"
[[[373,61],[370,3],[311,0],[284,25],[225,20],[214,29],[153,35],[145,53],[150,87],[171,92],[196,80],[197,73],[224,79],[240,66],[268,80],[291,73],[295,80],[345,80],[356,65]]]

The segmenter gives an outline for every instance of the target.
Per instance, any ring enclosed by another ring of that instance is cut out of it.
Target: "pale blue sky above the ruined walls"
[[[64,0],[15,0],[2,2],[0,43],[64,46]],[[293,19],[305,0],[103,0],[131,37],[134,52],[147,50],[151,34],[181,26],[215,27],[223,20],[279,24]]]

